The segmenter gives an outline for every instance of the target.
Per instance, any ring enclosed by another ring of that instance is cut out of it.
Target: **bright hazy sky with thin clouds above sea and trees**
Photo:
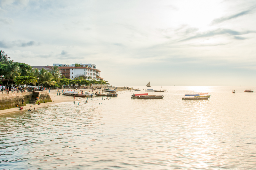
[[[256,85],[255,0],[0,0],[0,49],[111,85]]]

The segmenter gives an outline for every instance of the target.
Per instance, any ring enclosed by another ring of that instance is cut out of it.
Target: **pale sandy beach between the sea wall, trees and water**
[[[59,89],[59,90],[60,90],[60,95],[57,95],[58,90],[51,90],[50,96],[51,96],[52,102],[41,103],[41,105],[37,105],[37,104],[33,105],[33,104],[28,103],[28,104],[26,104],[27,106],[23,107],[23,111],[28,110],[29,108],[31,110],[34,110],[34,107],[36,109],[38,109],[40,107],[45,107],[45,106],[49,106],[49,105],[53,105],[53,104],[57,104],[57,103],[68,102],[68,101],[80,101],[80,100],[84,99],[84,98],[76,97],[74,100],[73,97],[62,95],[62,89]],[[68,89],[66,89],[66,90],[68,90]],[[77,89],[75,91],[81,93],[80,90],[81,89]],[[92,89],[82,89],[82,90],[85,92],[92,93]],[[122,90],[129,90],[129,89],[125,89],[124,87],[117,87],[117,91],[122,91]],[[64,89],[64,91],[65,91],[65,89]],[[72,91],[74,91],[74,90],[72,90]],[[96,92],[98,92],[98,91],[99,91],[99,89],[96,90]],[[49,90],[48,90],[48,92],[49,92]],[[93,92],[95,92],[95,91],[93,90]],[[19,109],[20,109],[19,107],[15,107],[15,108],[11,108],[11,109],[0,110],[0,115],[21,111]]]

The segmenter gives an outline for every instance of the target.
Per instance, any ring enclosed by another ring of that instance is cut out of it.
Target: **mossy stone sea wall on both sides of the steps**
[[[26,103],[29,103],[33,92],[15,92],[15,93],[2,93],[0,92],[0,110],[14,108],[18,104],[18,106],[22,106],[21,100],[24,99],[24,106]],[[52,99],[48,92],[40,92],[39,100],[43,102],[51,102]]]

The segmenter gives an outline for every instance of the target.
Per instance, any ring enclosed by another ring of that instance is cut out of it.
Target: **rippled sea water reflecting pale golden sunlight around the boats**
[[[0,115],[0,169],[256,169],[256,87],[162,89]],[[181,100],[198,92],[211,97]]]

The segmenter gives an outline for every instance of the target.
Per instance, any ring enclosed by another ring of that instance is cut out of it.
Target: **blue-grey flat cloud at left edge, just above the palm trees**
[[[35,41],[0,41],[0,48],[12,48],[12,47],[28,47],[28,46],[38,46],[41,45],[40,42]]]

